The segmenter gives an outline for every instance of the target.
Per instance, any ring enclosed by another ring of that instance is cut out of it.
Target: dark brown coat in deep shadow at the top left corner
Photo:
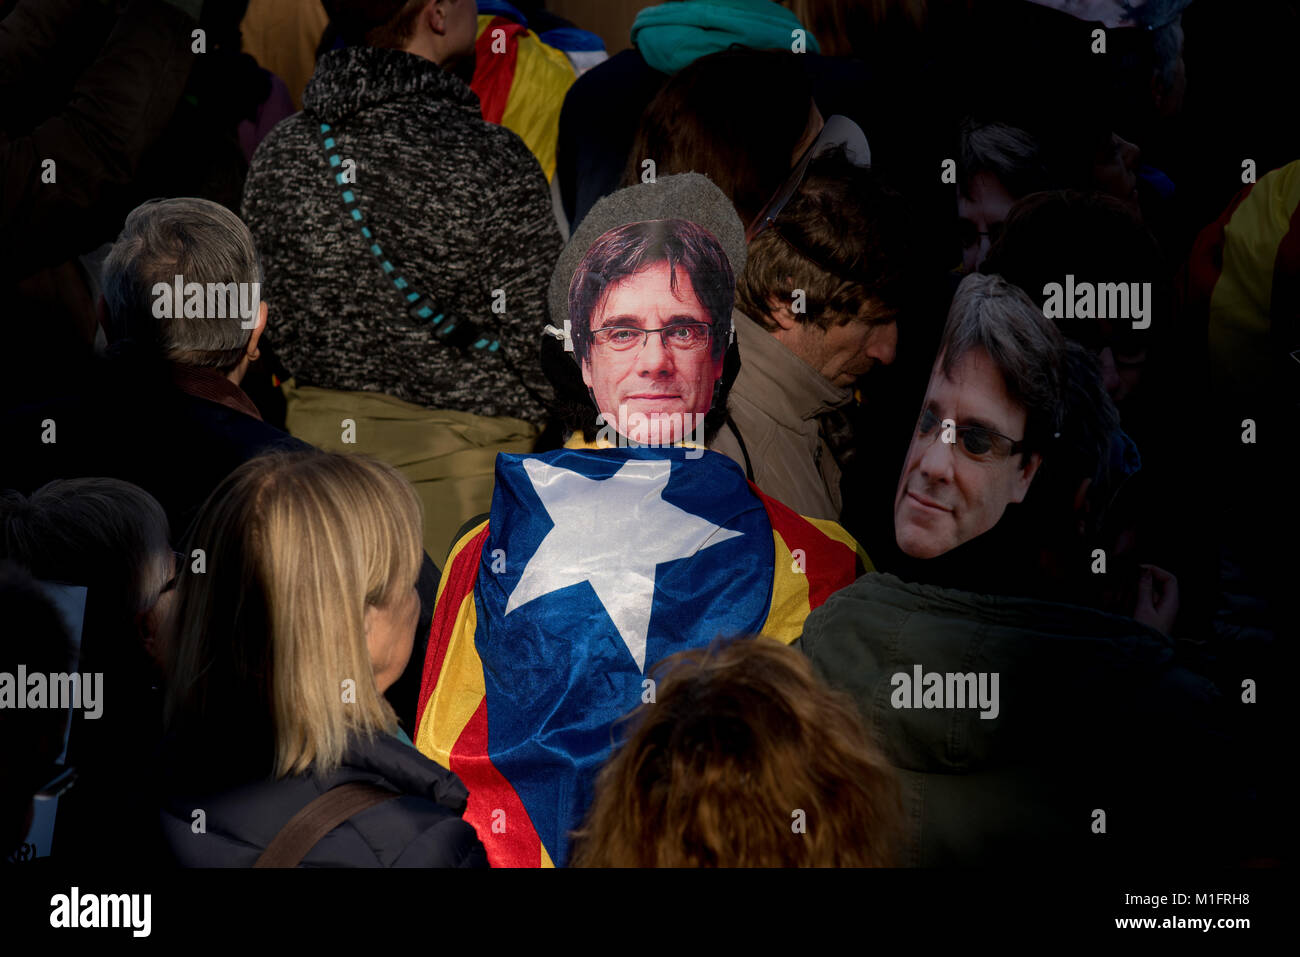
[[[95,341],[96,283],[74,256],[150,196],[146,172],[196,57],[194,18],[162,0],[23,0],[0,17],[0,407],[57,394]],[[173,165],[188,157],[172,153]],[[147,190],[147,191],[146,191]],[[139,195],[140,192],[144,195]],[[72,260],[72,261],[69,261]]]

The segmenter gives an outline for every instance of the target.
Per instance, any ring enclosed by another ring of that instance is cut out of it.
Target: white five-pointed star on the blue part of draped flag
[[[588,478],[541,459],[524,459],[524,469],[555,528],[524,567],[506,614],[589,581],[644,672],[656,566],[744,532],[666,502],[667,459],[630,459],[608,478]],[[612,546],[601,547],[602,541]]]

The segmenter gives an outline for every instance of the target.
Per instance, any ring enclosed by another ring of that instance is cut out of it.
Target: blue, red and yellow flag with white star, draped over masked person
[[[655,662],[719,636],[789,644],[863,570],[844,529],[714,451],[498,455],[489,519],[438,588],[416,746],[469,789],[493,866],[564,863]]]

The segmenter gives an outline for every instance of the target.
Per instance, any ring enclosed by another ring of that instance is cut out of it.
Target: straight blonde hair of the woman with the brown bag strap
[[[413,586],[421,527],[415,490],[378,462],[276,452],[231,472],[190,542],[207,568],[179,583],[169,728],[242,728],[277,778],[330,771],[352,735],[395,731],[365,610]]]

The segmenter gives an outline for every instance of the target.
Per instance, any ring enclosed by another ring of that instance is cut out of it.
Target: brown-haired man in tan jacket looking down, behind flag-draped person
[[[801,515],[840,518],[844,410],[861,376],[893,361],[913,291],[906,231],[901,198],[832,151],[749,244],[736,289],[741,371],[711,447]]]

